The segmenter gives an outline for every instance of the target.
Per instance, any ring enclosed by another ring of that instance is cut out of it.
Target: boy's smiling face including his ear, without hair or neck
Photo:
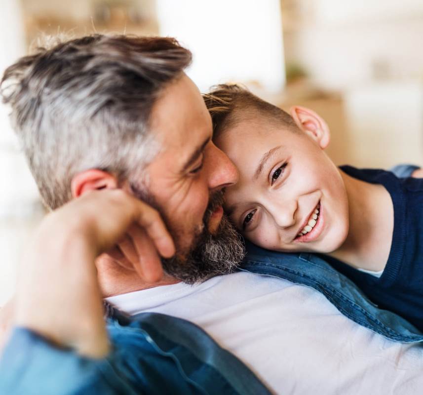
[[[226,190],[225,210],[246,238],[264,248],[331,252],[348,234],[344,182],[323,152],[327,125],[295,109],[297,130],[254,112],[215,138],[239,171],[238,183]]]

